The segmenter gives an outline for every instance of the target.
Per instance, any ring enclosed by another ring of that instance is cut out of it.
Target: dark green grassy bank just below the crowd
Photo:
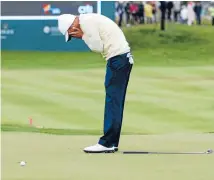
[[[166,31],[159,31],[159,25],[137,26],[124,30],[125,35],[134,50],[143,48],[190,48],[211,46],[213,44],[213,29],[207,26],[187,27],[169,24]],[[210,47],[211,48],[211,47]]]

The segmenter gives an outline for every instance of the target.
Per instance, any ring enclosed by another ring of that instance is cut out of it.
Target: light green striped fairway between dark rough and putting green
[[[102,128],[104,68],[3,70],[3,124]],[[123,133],[213,132],[214,67],[135,67]]]

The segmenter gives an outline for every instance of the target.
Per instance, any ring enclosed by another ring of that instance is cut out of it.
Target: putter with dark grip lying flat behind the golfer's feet
[[[123,151],[123,154],[212,154],[213,150],[204,152],[154,152],[154,151]]]

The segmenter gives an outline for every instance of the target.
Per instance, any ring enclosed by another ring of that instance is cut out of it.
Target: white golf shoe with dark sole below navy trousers
[[[101,144],[95,144],[93,146],[86,147],[84,149],[84,152],[86,152],[86,153],[114,153],[115,147],[108,148],[108,147],[102,146]]]

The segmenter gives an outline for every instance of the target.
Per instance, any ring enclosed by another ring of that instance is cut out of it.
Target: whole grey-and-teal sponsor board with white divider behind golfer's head
[[[114,2],[2,1],[2,50],[89,51],[82,40],[66,43],[57,27],[60,14],[102,13],[114,17]],[[103,11],[101,11],[103,9]]]

